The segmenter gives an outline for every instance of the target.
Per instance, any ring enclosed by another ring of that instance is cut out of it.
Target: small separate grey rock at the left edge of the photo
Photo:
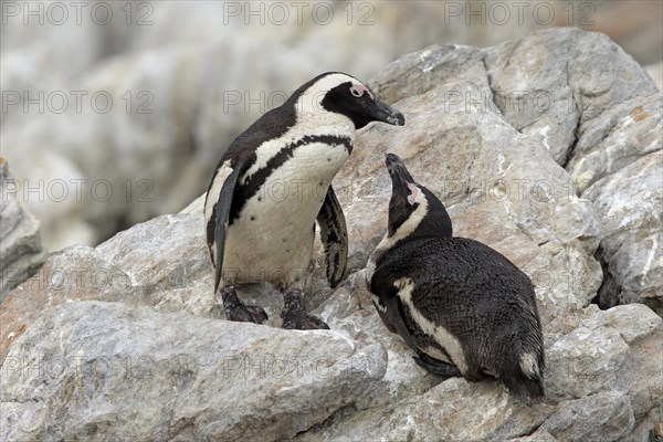
[[[0,302],[21,282],[32,276],[46,260],[39,221],[17,199],[18,180],[0,157]]]

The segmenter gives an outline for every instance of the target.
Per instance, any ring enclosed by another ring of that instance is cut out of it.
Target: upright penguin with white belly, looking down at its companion
[[[320,227],[327,280],[343,281],[347,231],[332,179],[352,150],[355,131],[370,122],[402,126],[398,110],[375,99],[350,75],[328,72],[297,88],[230,145],[208,188],[207,244],[214,293],[222,287],[225,317],[262,323],[234,285],[272,283],[283,292],[283,327],[328,328],[304,308],[303,285]]]

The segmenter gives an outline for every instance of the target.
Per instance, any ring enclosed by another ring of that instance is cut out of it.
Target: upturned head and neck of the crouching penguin
[[[391,177],[387,235],[451,236],[451,219],[442,201],[414,181],[397,155],[387,154],[385,162]]]

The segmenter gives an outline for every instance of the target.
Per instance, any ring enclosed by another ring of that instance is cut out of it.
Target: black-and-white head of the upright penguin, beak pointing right
[[[316,76],[295,91],[291,99],[298,101],[301,110],[344,115],[355,124],[356,129],[370,122],[398,126],[406,124],[403,114],[376,99],[361,82],[341,72]]]

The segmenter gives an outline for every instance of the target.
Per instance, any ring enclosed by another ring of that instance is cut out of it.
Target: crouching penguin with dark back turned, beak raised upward
[[[499,379],[526,403],[544,392],[544,339],[534,286],[495,250],[452,236],[440,200],[387,155],[392,190],[367,285],[382,322],[436,375]]]

